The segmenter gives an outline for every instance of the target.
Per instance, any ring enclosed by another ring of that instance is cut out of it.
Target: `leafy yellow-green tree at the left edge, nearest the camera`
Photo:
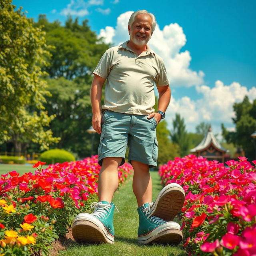
[[[58,141],[46,129],[54,116],[43,111],[50,93],[41,67],[49,46],[45,33],[11,3],[0,2],[0,143],[12,141],[16,152],[30,141],[47,149]]]

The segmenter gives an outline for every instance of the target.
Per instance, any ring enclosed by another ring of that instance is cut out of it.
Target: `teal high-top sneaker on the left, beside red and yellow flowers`
[[[113,216],[115,205],[111,202],[93,202],[92,214],[78,214],[72,225],[72,236],[78,243],[114,243]]]

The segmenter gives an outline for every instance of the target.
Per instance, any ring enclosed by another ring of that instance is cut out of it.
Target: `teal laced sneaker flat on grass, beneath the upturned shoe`
[[[182,241],[180,225],[156,216],[150,217],[150,206],[152,204],[146,203],[138,208],[138,243],[179,244]]]

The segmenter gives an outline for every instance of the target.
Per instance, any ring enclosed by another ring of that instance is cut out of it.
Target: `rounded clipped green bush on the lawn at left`
[[[75,161],[75,157],[64,149],[50,149],[43,152],[40,156],[40,161],[46,164],[64,163]]]

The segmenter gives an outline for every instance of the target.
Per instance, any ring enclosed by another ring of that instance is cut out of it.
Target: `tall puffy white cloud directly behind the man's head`
[[[128,20],[131,14],[132,11],[129,11],[118,16],[115,28],[112,27],[112,30],[109,26],[102,28],[99,37],[106,37],[106,42],[112,42],[114,45],[129,40]],[[163,30],[160,30],[157,24],[149,41],[149,46],[164,59],[172,86],[203,84],[204,72],[196,72],[189,68],[190,52],[180,52],[185,44],[186,36],[177,23],[166,25]]]

